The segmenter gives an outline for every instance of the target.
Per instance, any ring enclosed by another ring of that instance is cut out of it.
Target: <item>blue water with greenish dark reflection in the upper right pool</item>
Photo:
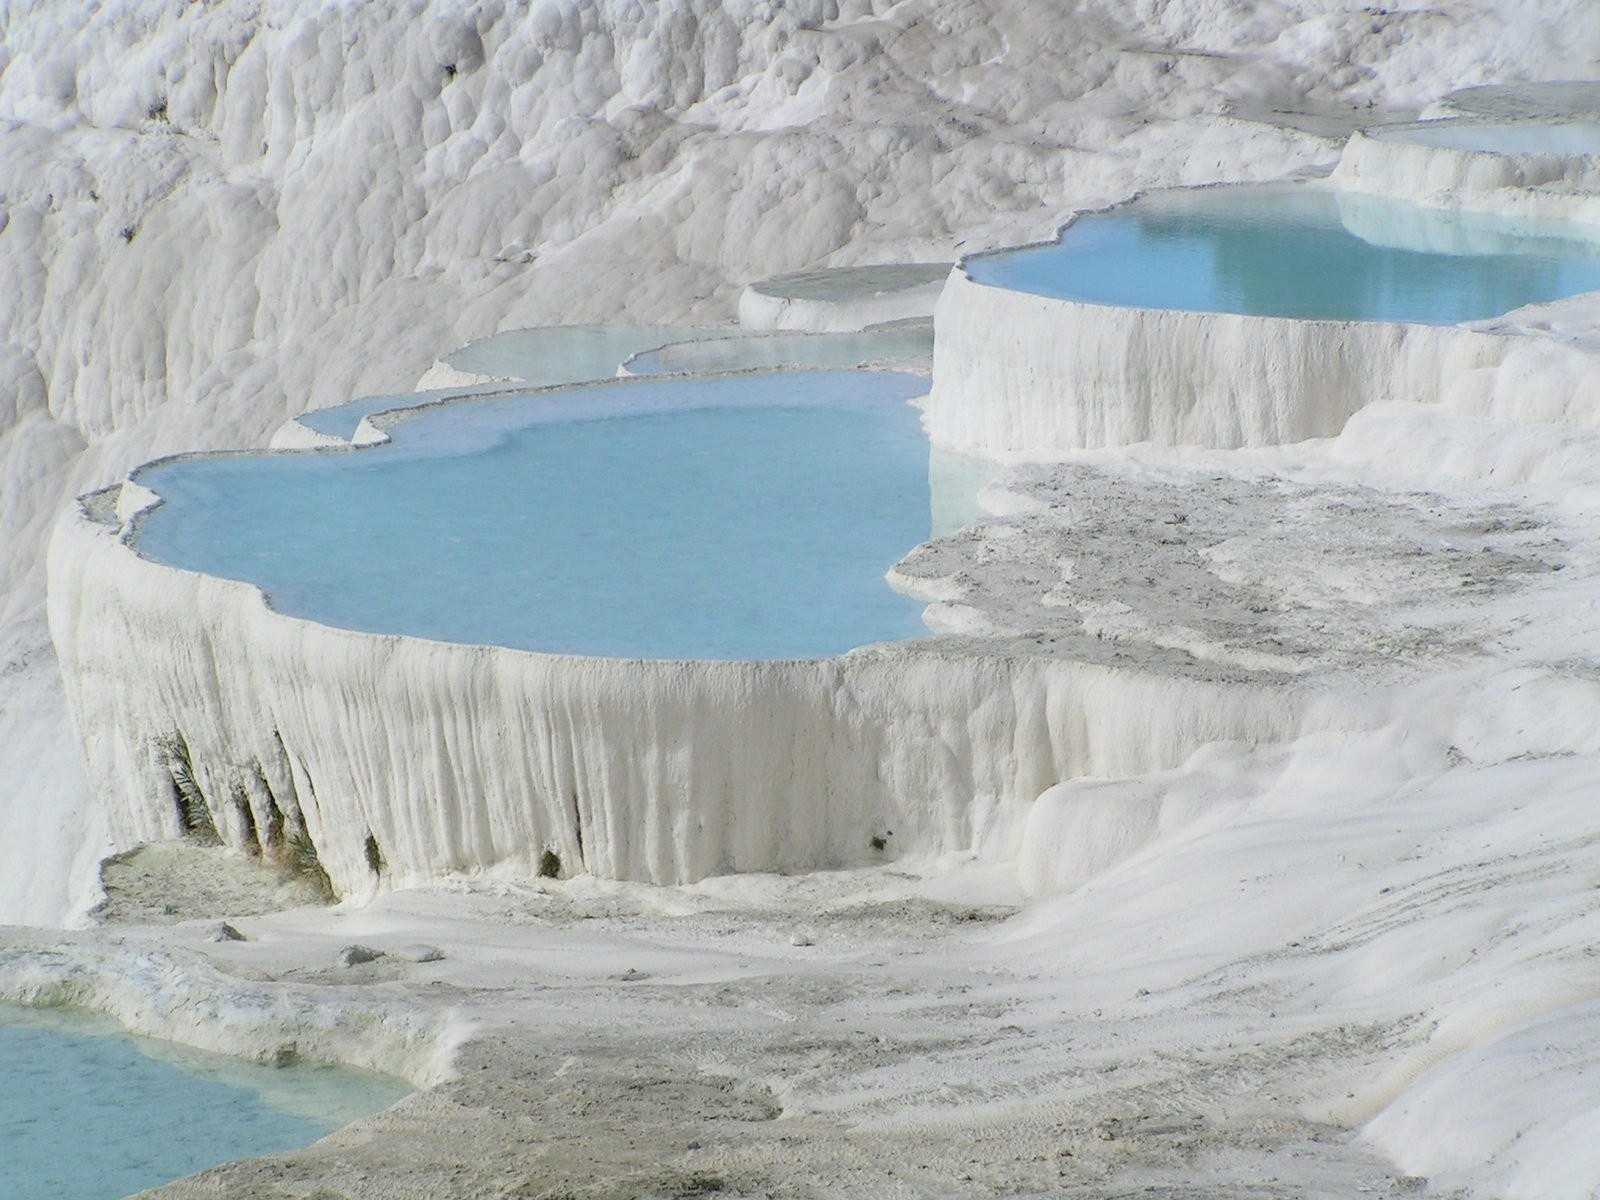
[[[1557,222],[1267,184],[1152,194],[968,274],[1091,304],[1454,325],[1600,290],[1600,243]]]

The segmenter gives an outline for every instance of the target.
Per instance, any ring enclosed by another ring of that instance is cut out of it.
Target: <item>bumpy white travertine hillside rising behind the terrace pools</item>
[[[72,496],[266,445],[498,330],[726,320],[744,280],[952,259],[1142,187],[1328,165],[1325,139],[1218,112],[1574,75],[1594,21],[1573,0],[1472,21],[1315,0],[1250,19],[1224,0],[0,5],[0,830],[19,846],[0,915],[96,899],[67,861],[98,835],[45,845],[99,819],[38,717],[61,707],[43,547]]]

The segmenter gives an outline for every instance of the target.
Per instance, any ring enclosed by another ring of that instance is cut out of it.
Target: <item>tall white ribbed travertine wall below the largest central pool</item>
[[[531,875],[544,850],[653,883],[829,867],[866,861],[885,827],[896,854],[1010,858],[1021,813],[1059,779],[1354,720],[1278,677],[995,643],[674,662],[360,634],[147,562],[80,509],[50,570],[51,634],[117,846],[182,832],[181,746],[227,845],[304,827],[344,894],[496,864]]]

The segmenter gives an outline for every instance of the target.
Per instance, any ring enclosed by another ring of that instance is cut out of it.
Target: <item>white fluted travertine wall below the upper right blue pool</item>
[[[1600,350],[1563,338],[1122,309],[957,270],[934,317],[926,427],[974,454],[1234,448],[1333,437],[1378,402],[1597,424],[1597,392]]]

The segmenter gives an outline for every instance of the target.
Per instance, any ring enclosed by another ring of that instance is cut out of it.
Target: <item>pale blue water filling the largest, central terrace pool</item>
[[[837,654],[926,632],[902,374],[650,381],[432,410],[365,451],[147,469],[149,558],[331,626],[619,658]]]

